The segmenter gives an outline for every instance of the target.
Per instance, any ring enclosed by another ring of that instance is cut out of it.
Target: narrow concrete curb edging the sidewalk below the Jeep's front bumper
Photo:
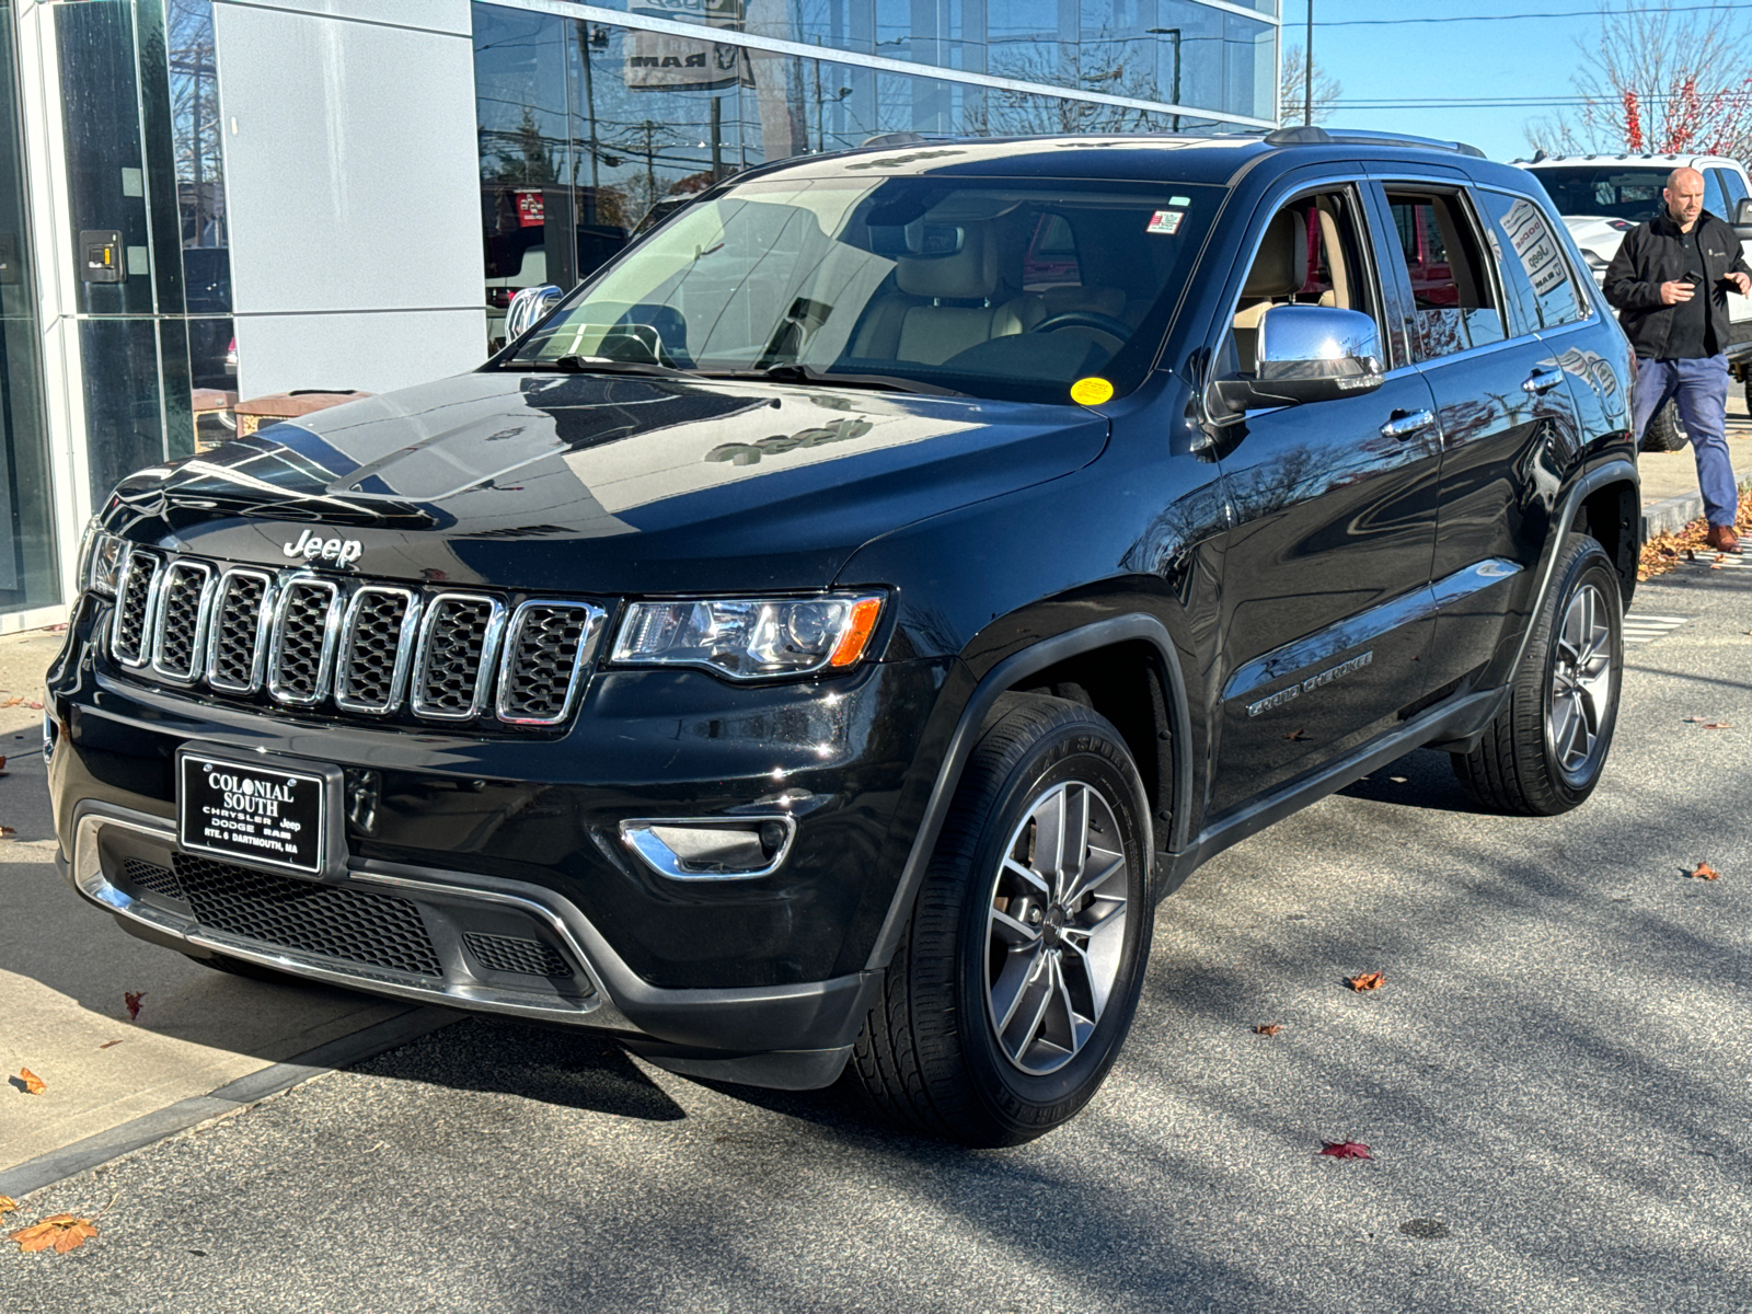
[[[261,1104],[270,1095],[279,1095],[293,1086],[301,1086],[303,1083],[326,1076],[338,1067],[363,1063],[366,1058],[375,1058],[387,1049],[403,1046],[408,1041],[417,1041],[422,1035],[461,1020],[463,1014],[454,1009],[410,1009],[398,1018],[378,1021],[361,1032],[354,1032],[352,1035],[342,1035],[338,1041],[329,1041],[328,1044],[319,1044],[315,1049],[307,1049],[284,1063],[270,1063],[259,1072],[251,1072],[245,1077],[230,1081],[208,1095],[194,1095],[191,1099],[179,1100],[177,1104],[159,1109],[158,1113],[142,1114],[140,1118],[123,1123],[121,1127],[112,1127],[107,1132],[88,1135],[84,1141],[75,1141],[61,1149],[26,1160],[18,1167],[0,1170],[0,1195],[11,1195],[14,1200],[23,1200],[26,1195],[40,1191],[44,1186],[54,1186],[56,1183],[67,1181],[75,1174],[89,1172],[102,1163],[109,1163],[123,1155],[131,1155],[133,1151],[144,1149],[158,1141],[165,1141],[177,1132],[186,1132],[191,1127],[212,1121],[214,1118],[223,1118],[226,1114],[238,1113],[240,1109],[247,1109],[252,1104]]]

